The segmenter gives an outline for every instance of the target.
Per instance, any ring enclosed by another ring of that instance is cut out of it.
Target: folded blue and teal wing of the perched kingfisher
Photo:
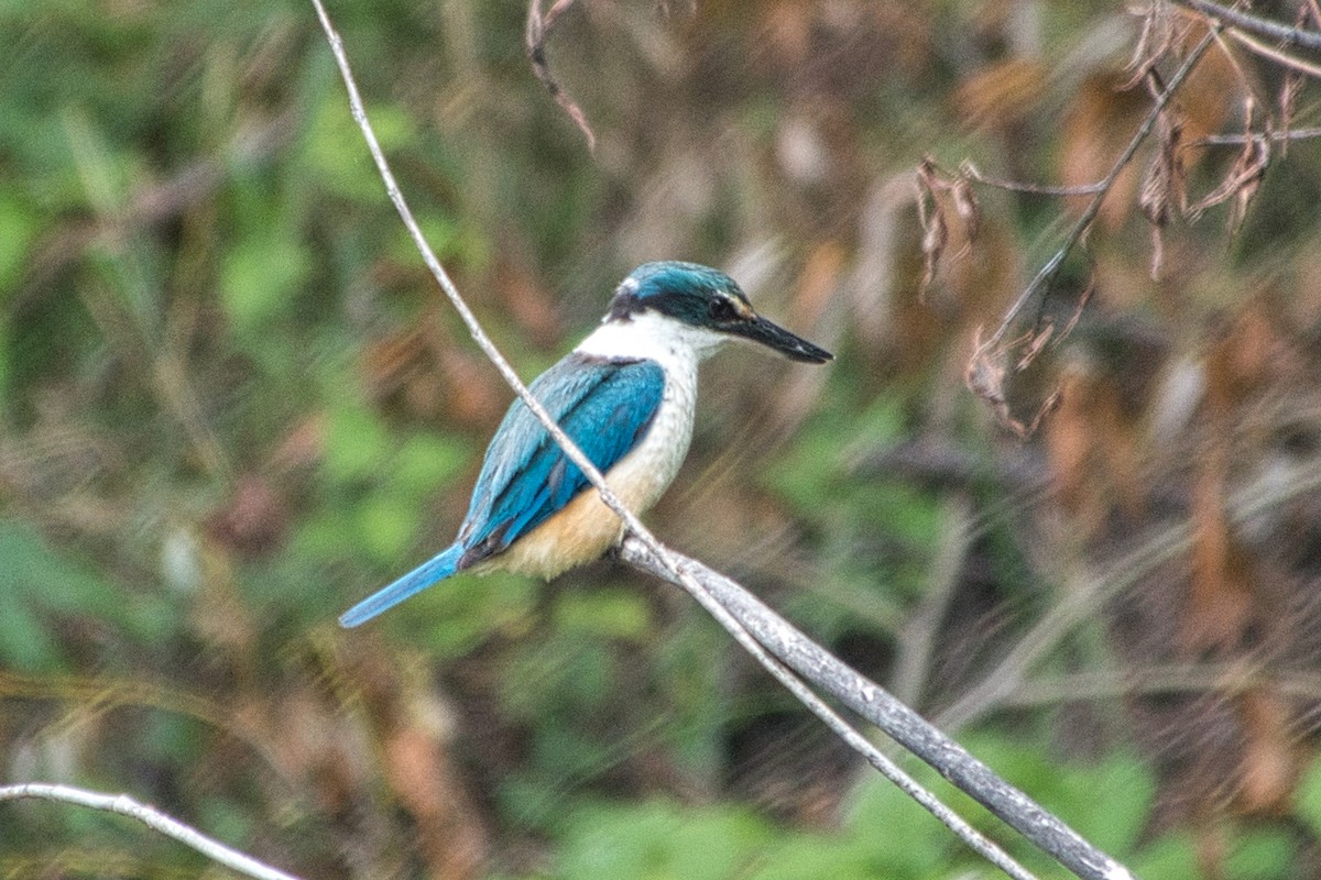
[[[528,391],[601,472],[646,434],[660,408],[664,371],[654,360],[602,360],[573,354]],[[576,464],[515,400],[486,450],[473,501],[458,532],[460,569],[499,553],[544,522],[588,486]]]

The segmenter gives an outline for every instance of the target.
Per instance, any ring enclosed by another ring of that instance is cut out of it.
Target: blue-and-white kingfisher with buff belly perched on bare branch
[[[538,376],[540,401],[634,513],[674,480],[692,439],[697,364],[731,339],[793,360],[831,352],[758,315],[737,282],[695,263],[634,269],[601,323]],[[520,400],[495,430],[454,542],[339,616],[357,627],[461,571],[553,578],[624,538],[624,522]]]

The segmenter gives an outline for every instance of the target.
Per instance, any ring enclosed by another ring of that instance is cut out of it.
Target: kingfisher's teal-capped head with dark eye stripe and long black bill
[[[741,336],[812,364],[831,360],[824,348],[814,346],[779,325],[758,315],[733,278],[696,263],[646,263],[629,274],[610,301],[606,321],[629,322],[651,314],[695,329],[711,347]]]

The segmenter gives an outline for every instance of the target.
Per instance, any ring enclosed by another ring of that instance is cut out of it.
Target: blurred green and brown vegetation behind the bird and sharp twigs
[[[1225,190],[1242,145],[1199,140],[1316,125],[1314,86],[1211,46],[1009,330],[1055,327],[1005,355],[997,412],[964,383],[978,329],[1085,198],[960,164],[1099,179],[1151,107],[1129,61],[1168,79],[1197,18],[1139,49],[1118,1],[580,0],[547,53],[589,150],[522,3],[330,13],[523,376],[653,259],[836,352],[708,364],[662,540],[1140,876],[1321,873],[1321,153],[1276,142]],[[1230,198],[1193,222],[1180,190]],[[618,565],[338,629],[449,542],[510,400],[310,5],[0,4],[0,780],[127,792],[306,877],[997,876]],[[231,875],[24,802],[0,876]]]

